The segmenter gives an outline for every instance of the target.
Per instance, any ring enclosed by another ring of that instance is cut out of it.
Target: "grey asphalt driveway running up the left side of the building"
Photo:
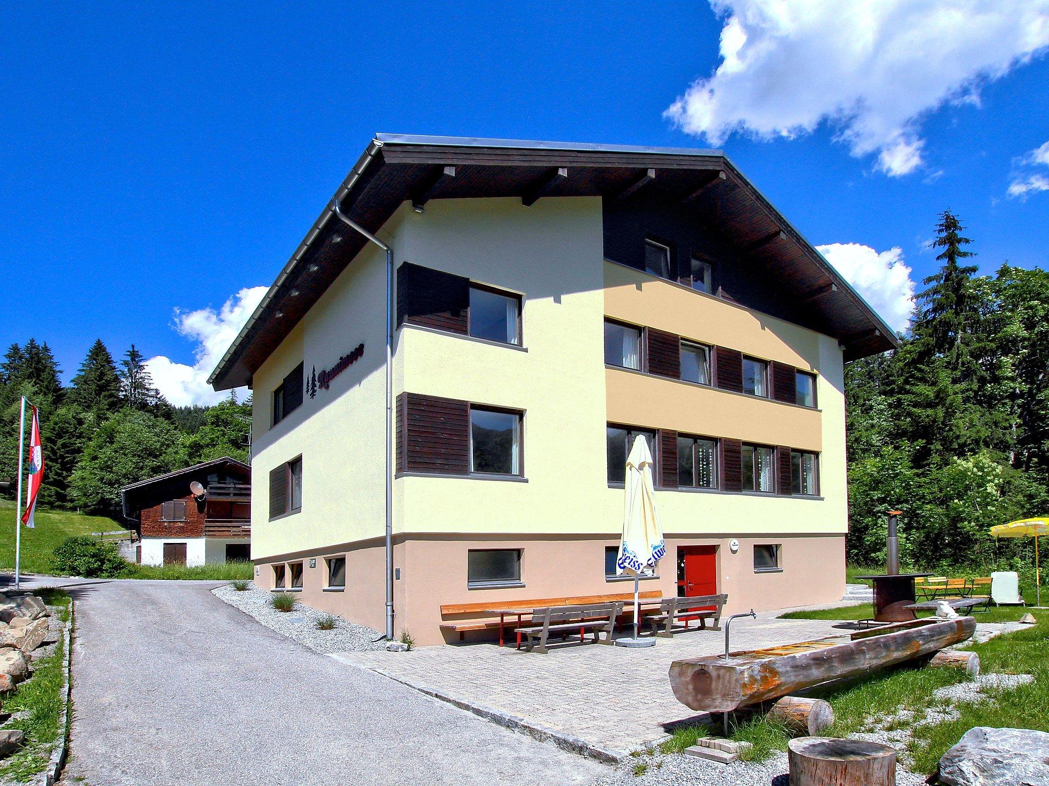
[[[200,582],[38,580],[77,601],[65,781],[575,784],[607,772],[262,627]]]

